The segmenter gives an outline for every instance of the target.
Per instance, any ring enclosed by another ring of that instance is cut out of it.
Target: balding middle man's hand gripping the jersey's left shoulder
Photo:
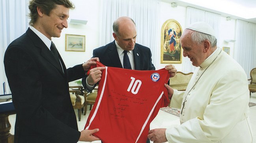
[[[90,74],[87,77],[87,83],[89,85],[93,85],[95,83],[97,83],[99,80],[101,80],[101,75],[102,75],[102,71],[106,69],[105,67],[95,67],[93,69],[90,70]]]

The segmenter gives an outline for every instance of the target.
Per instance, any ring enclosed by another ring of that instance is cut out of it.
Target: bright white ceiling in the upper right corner
[[[162,0],[180,6],[191,6],[232,19],[256,24],[256,0]]]

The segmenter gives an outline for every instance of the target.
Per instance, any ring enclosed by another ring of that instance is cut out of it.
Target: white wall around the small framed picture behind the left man
[[[69,11],[69,19],[87,20],[86,25],[68,24],[60,38],[52,38],[67,68],[84,63],[92,57],[93,49],[99,47],[100,0],[72,0],[75,9]],[[85,35],[85,52],[65,51],[65,34]]]

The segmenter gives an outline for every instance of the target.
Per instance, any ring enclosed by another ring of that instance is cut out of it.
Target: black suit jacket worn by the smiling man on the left
[[[60,61],[64,73],[30,28],[7,47],[4,66],[17,112],[15,143],[77,143],[80,132],[68,82],[85,72],[82,64],[66,69]]]

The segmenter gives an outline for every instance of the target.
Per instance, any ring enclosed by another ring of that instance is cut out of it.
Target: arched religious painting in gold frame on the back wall
[[[181,63],[182,48],[180,36],[182,29],[174,19],[164,22],[161,30],[161,63]]]

